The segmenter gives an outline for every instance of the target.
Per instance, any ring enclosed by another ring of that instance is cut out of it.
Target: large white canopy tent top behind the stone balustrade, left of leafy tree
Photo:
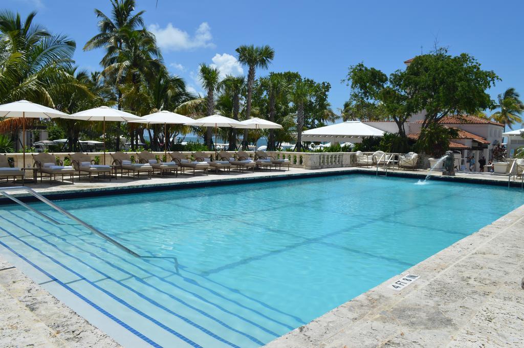
[[[346,121],[340,124],[309,129],[302,132],[302,141],[361,142],[364,137],[382,137],[384,131],[361,121]]]

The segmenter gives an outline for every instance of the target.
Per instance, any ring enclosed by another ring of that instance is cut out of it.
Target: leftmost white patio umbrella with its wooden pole
[[[26,118],[57,118],[69,116],[47,106],[28,102],[27,100],[18,100],[18,102],[0,105],[0,118],[22,118],[22,152],[24,167],[26,166]]]

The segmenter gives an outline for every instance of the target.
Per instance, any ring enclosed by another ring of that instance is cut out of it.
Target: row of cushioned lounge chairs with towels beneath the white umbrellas
[[[121,176],[124,173],[127,176],[139,177],[140,174],[146,174],[149,178],[155,172],[160,175],[174,174],[178,176],[179,170],[181,173],[186,171],[192,172],[193,175],[196,171],[202,171],[204,174],[208,174],[209,169],[214,169],[215,173],[224,171],[227,173],[231,172],[231,169],[244,172],[246,170],[255,170],[255,167],[260,169],[282,169],[282,166],[288,167],[290,161],[285,159],[275,159],[269,156],[264,151],[256,152],[256,159],[251,159],[249,154],[244,151],[238,151],[235,154],[222,151],[217,155],[216,160],[212,161],[211,155],[204,152],[195,152],[192,154],[192,158],[184,155],[181,152],[172,152],[169,154],[171,161],[162,162],[157,159],[155,154],[149,151],[142,151],[137,153],[138,162],[133,163],[132,156],[125,152],[111,153],[113,159],[111,165],[95,164],[94,160],[91,160],[90,155],[77,152],[69,156],[71,165],[64,165],[61,160],[58,160],[55,156],[50,153],[41,152],[37,155],[33,155],[34,167],[32,170],[35,171],[35,178],[40,176],[40,182],[43,177],[49,177],[50,179],[56,180],[57,177],[61,177],[64,181],[64,177],[70,178],[71,182],[74,182],[74,175],[78,175],[79,178],[82,176],[89,177],[89,180],[94,176],[109,178],[113,177],[112,174],[118,174]],[[24,171],[20,168],[12,168],[9,165],[7,156],[0,156],[0,178],[17,177],[24,180]]]

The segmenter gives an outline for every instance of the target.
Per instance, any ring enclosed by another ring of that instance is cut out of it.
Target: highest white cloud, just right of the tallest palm
[[[187,31],[173,27],[171,23],[168,23],[165,28],[160,28],[158,24],[151,24],[147,29],[155,34],[158,46],[165,50],[182,51],[215,47],[211,42],[213,39],[211,27],[207,22],[199,25],[193,36]]]

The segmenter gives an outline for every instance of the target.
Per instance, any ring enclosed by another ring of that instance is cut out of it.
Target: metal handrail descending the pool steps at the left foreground
[[[21,206],[31,210],[32,212],[35,212],[36,214],[40,215],[41,217],[43,217],[43,218],[45,218],[45,219],[47,219],[47,220],[49,220],[49,221],[51,221],[53,223],[64,224],[64,223],[58,222],[57,220],[54,220],[53,218],[47,216],[46,214],[43,214],[42,212],[36,210],[35,208],[32,208],[28,204],[25,204],[23,201],[19,200],[18,198],[14,197],[14,196],[12,196],[12,195],[10,195],[10,194],[8,194],[6,192],[6,191],[16,191],[16,190],[24,190],[24,191],[28,192],[31,196],[37,198],[38,200],[40,200],[43,203],[47,204],[48,206],[50,206],[54,210],[57,210],[58,212],[60,212],[63,215],[67,216],[71,220],[77,221],[78,223],[80,223],[85,228],[91,230],[91,232],[93,232],[94,234],[96,234],[99,237],[105,239],[106,241],[112,243],[113,245],[117,246],[119,249],[122,249],[123,251],[125,251],[128,254],[131,254],[131,255],[133,255],[135,257],[139,257],[141,259],[172,259],[174,261],[175,268],[176,268],[177,273],[178,273],[178,260],[177,260],[176,257],[174,257],[174,256],[143,256],[143,255],[139,255],[136,252],[134,252],[133,250],[127,248],[127,246],[122,245],[121,243],[117,242],[113,238],[109,237],[107,234],[105,234],[105,233],[101,232],[100,230],[96,229],[95,227],[91,226],[89,223],[87,223],[87,222],[77,218],[76,216],[71,214],[69,211],[67,211],[67,210],[65,210],[63,208],[60,208],[56,204],[52,203],[52,201],[50,201],[46,197],[40,195],[38,192],[36,192],[32,188],[29,188],[27,186],[3,187],[3,188],[0,188],[0,194],[4,195],[5,197],[9,198],[10,200],[14,201],[15,203],[18,203],[19,205],[21,205]]]

